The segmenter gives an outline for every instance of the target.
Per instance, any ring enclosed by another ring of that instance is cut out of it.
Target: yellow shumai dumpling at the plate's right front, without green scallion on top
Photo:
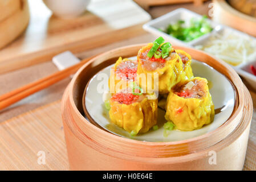
[[[200,129],[214,119],[214,105],[208,81],[194,77],[173,87],[166,103],[165,119],[172,121],[178,130]]]

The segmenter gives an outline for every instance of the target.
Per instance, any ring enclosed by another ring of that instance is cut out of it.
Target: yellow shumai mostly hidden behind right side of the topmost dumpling
[[[192,57],[188,53],[186,53],[185,51],[180,50],[180,49],[177,49],[176,53],[180,56],[181,61],[182,61],[182,67],[183,67],[183,70],[185,72],[185,75],[190,80],[191,78],[194,77],[193,72],[192,72],[192,68],[190,66],[191,61],[192,61]]]

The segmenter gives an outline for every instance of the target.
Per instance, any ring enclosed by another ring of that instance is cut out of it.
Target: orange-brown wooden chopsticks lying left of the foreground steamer
[[[9,93],[3,94],[0,96],[0,110],[5,109],[6,107],[22,100],[23,98],[30,96],[31,94],[38,92],[48,86],[55,84],[56,82],[63,80],[64,78],[74,74],[83,64],[87,63],[88,60],[91,60],[93,57],[82,60],[80,63],[75,64],[69,68],[63,69],[53,73],[50,76],[41,78],[35,82],[31,82],[21,88],[15,89]]]

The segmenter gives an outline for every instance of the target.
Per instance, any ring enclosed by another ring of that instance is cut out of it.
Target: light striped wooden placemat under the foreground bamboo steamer
[[[0,125],[0,170],[68,170],[60,101]],[[38,159],[46,156],[45,164]],[[256,170],[256,113],[253,113],[244,170]]]

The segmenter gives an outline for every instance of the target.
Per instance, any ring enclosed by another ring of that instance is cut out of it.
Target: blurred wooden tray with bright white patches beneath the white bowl
[[[0,51],[0,73],[51,60],[66,50],[82,52],[143,34],[142,24],[151,19],[132,0],[94,0],[88,11],[75,19],[52,16],[40,0],[29,3],[29,26],[25,34]]]

